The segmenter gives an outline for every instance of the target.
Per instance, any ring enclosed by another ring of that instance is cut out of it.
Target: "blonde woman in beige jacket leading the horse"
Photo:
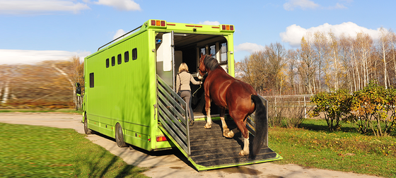
[[[179,66],[179,74],[176,76],[176,93],[179,94],[180,92],[180,97],[185,100],[188,109],[187,113],[190,118],[189,124],[190,126],[194,125],[194,112],[192,112],[192,107],[191,107],[191,88],[190,88],[190,81],[194,85],[201,85],[202,81],[195,81],[194,77],[191,76],[191,74],[188,71],[188,66],[184,62],[180,64]]]

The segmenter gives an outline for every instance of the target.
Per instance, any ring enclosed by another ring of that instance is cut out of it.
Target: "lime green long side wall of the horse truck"
[[[125,131],[150,133],[156,104],[155,61],[148,52],[148,32],[119,42],[86,58],[86,112],[101,123],[100,132],[114,137],[111,126],[120,123]],[[137,59],[132,58],[132,49]],[[129,61],[124,54],[128,52]],[[117,57],[121,54],[121,64]],[[114,66],[112,65],[114,57]],[[106,68],[106,59],[109,67]],[[89,73],[94,73],[94,87],[89,88]],[[107,128],[105,126],[107,125]],[[110,126],[110,129],[109,129]],[[146,138],[145,138],[146,139]],[[144,149],[149,149],[146,144]]]

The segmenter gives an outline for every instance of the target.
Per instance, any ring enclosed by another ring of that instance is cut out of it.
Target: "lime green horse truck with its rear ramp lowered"
[[[280,160],[281,156],[268,148],[268,141],[262,156],[255,158],[240,157],[238,153],[234,156],[232,149],[206,148],[206,142],[213,141],[237,147],[238,152],[240,141],[236,136],[226,139],[221,133],[212,133],[216,129],[209,131],[200,126],[199,120],[204,123],[206,118],[203,87],[192,85],[194,126],[187,124],[185,101],[175,93],[178,67],[185,62],[192,76],[197,76],[200,54],[211,54],[234,76],[233,32],[235,27],[226,24],[148,20],[100,47],[84,60],[86,133],[115,138],[120,147],[132,145],[149,151],[178,148],[197,170]],[[262,100],[265,105],[267,101]],[[211,117],[218,114],[214,112]],[[248,120],[254,136],[254,116]],[[224,157],[229,155],[231,158]]]

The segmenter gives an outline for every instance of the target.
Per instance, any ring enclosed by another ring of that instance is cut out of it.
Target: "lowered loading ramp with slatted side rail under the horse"
[[[213,120],[211,129],[204,129],[206,121],[196,121],[194,126],[188,126],[185,102],[158,76],[158,127],[165,135],[175,143],[177,148],[192,162],[192,165],[200,170],[214,170],[224,167],[239,165],[251,165],[260,162],[281,160],[282,157],[268,147],[268,138],[265,138],[264,146],[256,156],[240,156],[243,149],[243,141],[240,133],[233,138],[223,137],[221,120]],[[167,96],[167,97],[166,97]],[[166,99],[165,99],[166,98]],[[262,100],[264,100],[262,98]],[[264,105],[267,104],[265,100]],[[250,131],[250,145],[254,139],[255,123],[254,114],[248,118]],[[229,129],[236,127],[231,118],[226,118]],[[252,153],[252,150],[250,150]]]

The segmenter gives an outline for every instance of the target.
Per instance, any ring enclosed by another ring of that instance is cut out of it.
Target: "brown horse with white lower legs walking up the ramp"
[[[240,150],[239,155],[249,155],[249,131],[246,128],[246,118],[255,112],[255,130],[256,135],[253,141],[252,152],[253,155],[262,148],[265,134],[267,131],[267,117],[265,116],[265,107],[258,97],[255,89],[248,83],[237,80],[228,75],[226,71],[219,65],[219,62],[209,55],[201,54],[199,64],[199,79],[202,79],[205,73],[208,73],[204,82],[206,114],[207,121],[204,126],[205,129],[211,128],[210,105],[213,101],[221,108],[221,124],[223,125],[223,136],[233,138],[235,133],[241,131],[244,138],[243,150]],[[230,116],[235,121],[237,128],[230,131],[224,121],[225,109],[228,109]]]

